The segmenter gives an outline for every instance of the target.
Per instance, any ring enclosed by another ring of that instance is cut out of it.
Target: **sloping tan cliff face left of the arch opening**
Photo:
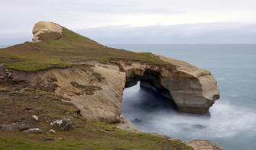
[[[11,81],[53,91],[61,101],[74,104],[88,119],[120,122],[125,72],[83,65],[39,72],[12,71]]]

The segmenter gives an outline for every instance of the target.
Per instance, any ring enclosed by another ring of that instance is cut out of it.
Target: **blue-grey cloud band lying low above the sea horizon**
[[[256,24],[212,23],[77,30],[99,43],[256,43]]]

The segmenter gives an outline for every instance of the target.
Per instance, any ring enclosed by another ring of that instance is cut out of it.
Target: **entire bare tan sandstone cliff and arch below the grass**
[[[1,76],[53,91],[63,97],[62,101],[76,105],[86,118],[106,123],[120,122],[123,90],[138,81],[141,86],[148,84],[164,93],[182,112],[208,113],[209,107],[219,98],[215,78],[210,72],[186,62],[165,57],[164,60],[173,65],[166,67],[124,60],[107,64],[81,61],[81,65],[66,69],[5,73],[2,70],[6,75]]]

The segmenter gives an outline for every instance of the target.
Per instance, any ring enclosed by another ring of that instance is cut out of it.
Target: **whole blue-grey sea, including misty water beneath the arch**
[[[256,45],[109,45],[190,62],[216,78],[221,97],[210,116],[178,113],[167,99],[140,88],[124,91],[122,115],[144,132],[183,141],[209,139],[225,150],[256,149]]]

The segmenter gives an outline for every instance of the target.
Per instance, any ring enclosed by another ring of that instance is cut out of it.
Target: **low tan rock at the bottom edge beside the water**
[[[212,143],[206,139],[196,139],[190,142],[186,142],[186,145],[194,148],[194,150],[224,150],[218,144]]]

